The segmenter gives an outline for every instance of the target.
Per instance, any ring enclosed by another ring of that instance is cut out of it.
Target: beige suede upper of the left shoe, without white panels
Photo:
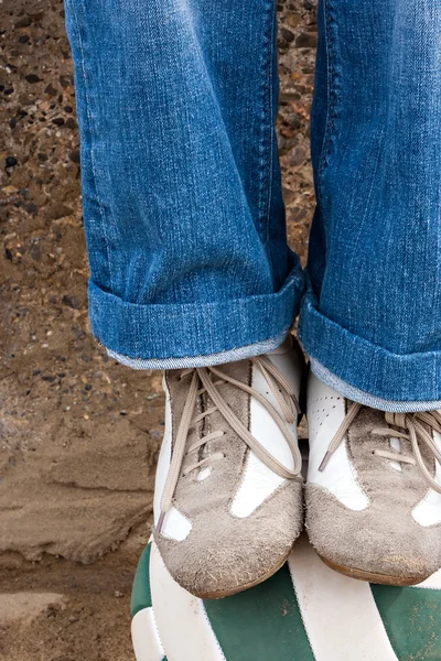
[[[223,365],[222,370],[250,384],[249,360]],[[166,373],[173,440],[191,378],[180,380],[180,370]],[[218,391],[249,429],[250,395],[229,383],[219,384]],[[206,393],[198,398],[200,412],[212,405]],[[198,596],[216,597],[244,589],[278,568],[302,530],[303,506],[302,481],[298,478],[284,480],[250,516],[234,517],[232,501],[241,484],[250,451],[218,411],[191,430],[187,446],[196,436],[213,430],[223,430],[226,435],[211,441],[204,452],[223,453],[224,458],[213,463],[208,477],[202,481],[196,479],[196,472],[181,476],[173,498],[174,507],[191,521],[190,534],[183,541],[175,541],[154,531],[154,539],[178,583]],[[201,453],[201,449],[195,452]],[[183,468],[197,462],[193,455],[186,456]]]

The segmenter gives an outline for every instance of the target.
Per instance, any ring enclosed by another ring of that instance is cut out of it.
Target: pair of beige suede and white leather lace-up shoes
[[[415,585],[441,567],[441,414],[384,413],[310,373],[304,458],[303,375],[291,336],[265,356],[164,373],[153,534],[197,597],[266,581],[304,525],[321,559],[355,578]]]

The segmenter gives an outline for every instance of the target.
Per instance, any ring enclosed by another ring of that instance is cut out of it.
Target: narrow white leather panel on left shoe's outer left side
[[[162,440],[161,451],[159,453],[157,477],[154,480],[154,497],[153,497],[153,518],[154,525],[158,525],[161,513],[161,498],[164,490],[166,474],[169,473],[171,454],[172,454],[172,411],[170,402],[170,392],[165,383],[162,382],[165,391],[165,430]],[[192,523],[181,512],[172,506],[165,514],[162,524],[161,534],[171,540],[182,542],[190,533]]]

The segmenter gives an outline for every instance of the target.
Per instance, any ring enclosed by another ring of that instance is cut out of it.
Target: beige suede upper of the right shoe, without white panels
[[[418,467],[402,463],[396,470],[389,459],[374,454],[387,446],[387,438],[370,432],[384,426],[383,412],[363,407],[345,440],[368,507],[354,511],[324,487],[308,484],[306,528],[319,554],[332,563],[417,583],[441,566],[441,525],[426,528],[412,517],[428,494]],[[434,474],[433,456],[421,451]],[[401,441],[401,453],[411,455],[409,441]]]

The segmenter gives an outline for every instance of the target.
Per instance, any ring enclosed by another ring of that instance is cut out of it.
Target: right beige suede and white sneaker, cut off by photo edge
[[[384,413],[310,375],[306,529],[332,568],[415,585],[441,567],[441,414]]]

